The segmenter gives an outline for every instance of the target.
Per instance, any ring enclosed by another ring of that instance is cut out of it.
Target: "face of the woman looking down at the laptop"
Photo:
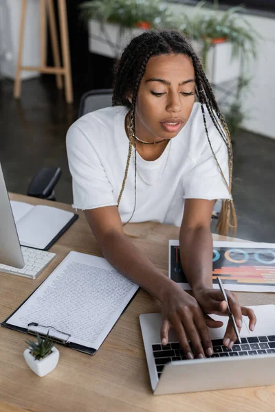
[[[146,141],[175,137],[195,102],[195,71],[186,54],[148,60],[135,106],[135,133]]]

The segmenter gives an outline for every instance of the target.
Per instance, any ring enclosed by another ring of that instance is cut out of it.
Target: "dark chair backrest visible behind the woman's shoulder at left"
[[[96,89],[85,93],[80,100],[78,117],[99,108],[111,106],[113,89]]]

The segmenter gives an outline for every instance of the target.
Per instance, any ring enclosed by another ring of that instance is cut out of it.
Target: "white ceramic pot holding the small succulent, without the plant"
[[[36,360],[34,356],[32,356],[30,347],[25,349],[23,354],[28,367],[38,376],[50,374],[56,367],[59,359],[59,351],[56,347],[52,347],[52,353],[41,360]]]

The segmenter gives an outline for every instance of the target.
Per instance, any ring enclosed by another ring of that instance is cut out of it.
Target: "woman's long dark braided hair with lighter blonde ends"
[[[140,87],[140,82],[144,76],[146,69],[146,64],[152,56],[159,56],[161,54],[186,54],[192,60],[192,65],[195,70],[195,94],[197,101],[201,106],[201,113],[203,117],[203,124],[206,130],[206,138],[210,146],[212,155],[217,163],[217,166],[221,172],[221,176],[225,185],[228,187],[228,192],[231,196],[230,199],[224,200],[222,202],[221,213],[219,214],[219,220],[217,223],[217,229],[219,234],[227,235],[228,230],[232,229],[233,234],[236,232],[236,212],[234,209],[234,203],[232,201],[232,145],[230,140],[230,133],[228,126],[221,115],[217,101],[214,98],[214,93],[206,74],[203,71],[201,65],[201,60],[195,53],[194,49],[190,45],[190,41],[177,30],[146,30],[140,36],[136,36],[131,40],[129,45],[126,46],[120,60],[115,64],[114,68],[114,83],[113,83],[113,106],[126,106],[130,109],[130,136],[129,136],[129,152],[126,161],[126,170],[124,174],[124,179],[122,182],[122,187],[120,194],[118,196],[118,206],[120,205],[120,200],[122,193],[124,191],[124,186],[126,183],[126,178],[129,170],[129,163],[131,159],[131,150],[134,146],[134,156],[135,156],[135,204],[133,208],[133,214],[135,212],[136,205],[136,147],[135,147],[135,104],[137,101],[137,92]],[[131,102],[128,99],[128,95],[132,95]],[[208,128],[206,124],[206,113],[205,107],[212,119],[212,122],[217,128],[219,135],[223,139],[225,145],[228,148],[228,163],[229,163],[229,181],[226,181],[219,161],[214,153],[210,137],[208,135]],[[131,220],[129,218],[128,222]],[[128,223],[126,222],[126,223]],[[125,225],[126,225],[125,223]]]

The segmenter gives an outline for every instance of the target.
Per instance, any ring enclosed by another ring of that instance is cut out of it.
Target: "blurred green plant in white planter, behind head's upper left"
[[[173,27],[174,18],[162,0],[94,0],[80,4],[88,25],[89,50],[118,58],[131,37],[143,30]]]

